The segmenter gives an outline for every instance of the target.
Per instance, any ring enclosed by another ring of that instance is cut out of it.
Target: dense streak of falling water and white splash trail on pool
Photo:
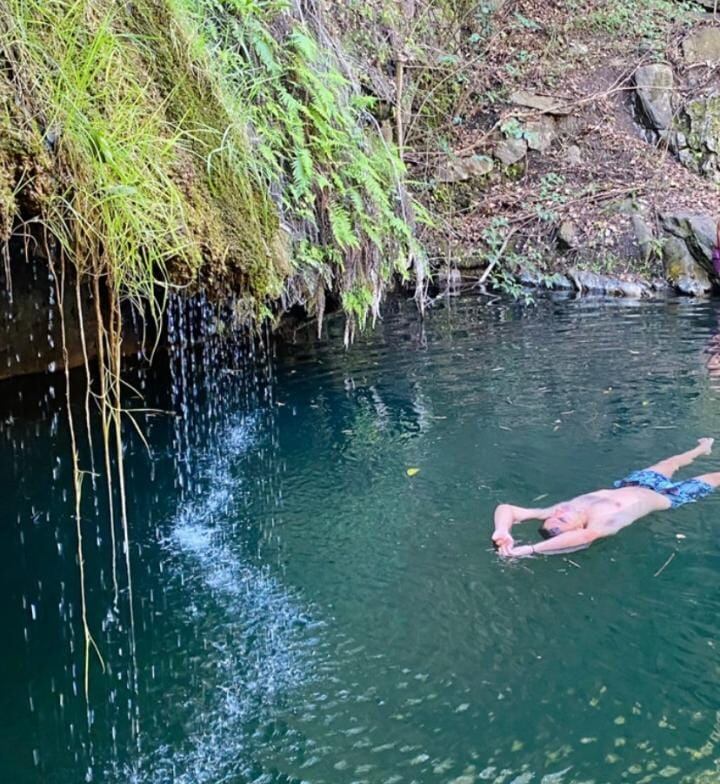
[[[151,729],[130,765],[107,768],[113,780],[210,784],[249,776],[247,727],[309,678],[309,633],[318,624],[237,543],[238,526],[250,524],[243,462],[260,461],[256,481],[268,508],[281,494],[269,336],[234,327],[232,315],[202,297],[174,299],[168,309],[177,504],[163,562],[166,579],[179,578],[187,592],[193,633],[213,652],[203,665],[203,696],[179,706],[187,723],[176,747],[154,742]]]

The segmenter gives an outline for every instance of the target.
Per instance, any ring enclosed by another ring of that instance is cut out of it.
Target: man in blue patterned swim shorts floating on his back
[[[672,476],[695,458],[709,455],[713,441],[701,438],[695,449],[668,457],[643,471],[633,471],[615,482],[615,490],[595,490],[546,509],[500,504],[495,510],[493,542],[500,555],[506,557],[570,553],[616,534],[651,512],[704,498],[720,485],[720,471],[682,482],[673,482]],[[528,520],[543,521],[540,534],[546,541],[518,546],[510,531],[515,523]]]

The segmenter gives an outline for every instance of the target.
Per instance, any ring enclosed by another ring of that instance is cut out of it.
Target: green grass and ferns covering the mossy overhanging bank
[[[232,288],[256,315],[326,286],[354,323],[377,310],[418,256],[413,207],[321,34],[281,0],[0,0],[0,97],[32,118],[38,217],[80,273],[156,310],[168,285]]]

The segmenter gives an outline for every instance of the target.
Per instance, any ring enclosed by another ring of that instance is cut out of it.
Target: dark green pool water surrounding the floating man
[[[128,450],[134,647],[84,513],[89,716],[60,388],[1,386],[0,781],[720,781],[720,497],[572,560],[489,547],[500,501],[720,435],[717,329],[716,303],[468,299],[209,389],[200,360],[141,376],[184,418]]]

